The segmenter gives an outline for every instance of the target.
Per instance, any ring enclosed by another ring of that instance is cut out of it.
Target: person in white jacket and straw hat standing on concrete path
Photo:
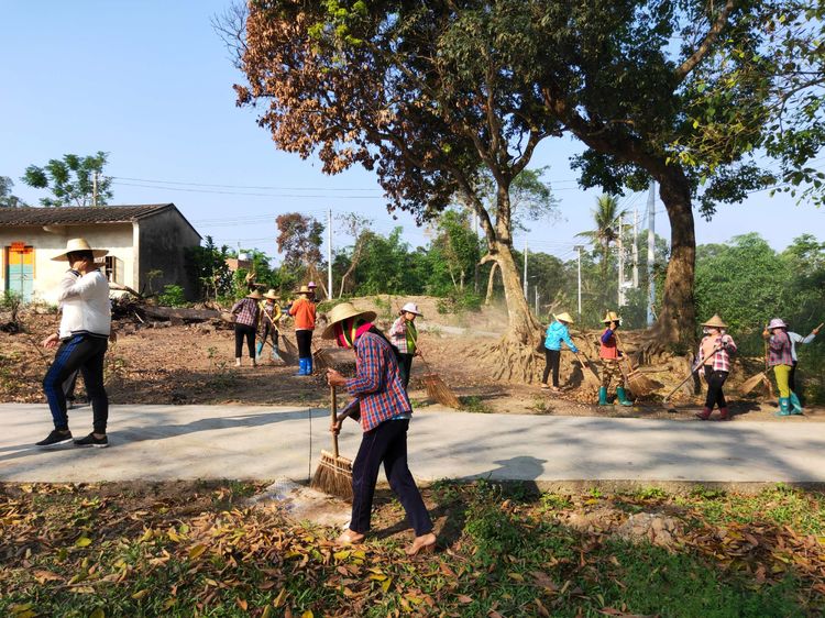
[[[66,412],[63,383],[77,369],[84,376],[94,415],[94,430],[86,438],[75,440],[78,446],[106,448],[109,439],[106,426],[109,419],[109,398],[103,387],[103,357],[111,330],[109,283],[98,271],[95,258],[106,255],[106,250],[92,250],[85,239],[68,241],[66,251],[52,260],[68,261],[69,269],[61,282],[57,301],[63,306],[59,332],[43,340],[48,349],[57,347],[55,360],[43,378],[43,391],[52,411],[54,431],[37,446],[55,446],[72,441]]]

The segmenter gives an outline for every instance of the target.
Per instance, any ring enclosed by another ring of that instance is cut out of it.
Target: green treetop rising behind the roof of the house
[[[95,206],[95,176],[97,175],[97,206],[106,206],[112,198],[111,176],[103,175],[109,153],[95,155],[63,155],[52,158],[44,167],[30,165],[23,183],[35,189],[47,189],[51,197],[40,200],[43,206]]]

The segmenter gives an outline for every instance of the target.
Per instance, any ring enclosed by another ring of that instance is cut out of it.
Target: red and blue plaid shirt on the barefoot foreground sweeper
[[[355,377],[346,380],[346,390],[355,399],[346,409],[360,408],[364,431],[403,415],[409,418],[413,407],[404,390],[395,352],[380,335],[365,332],[358,339],[355,369]]]

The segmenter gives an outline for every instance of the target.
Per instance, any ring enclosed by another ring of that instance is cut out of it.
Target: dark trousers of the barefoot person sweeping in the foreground
[[[383,463],[389,487],[398,496],[416,537],[432,531],[430,514],[427,512],[421,494],[407,467],[408,429],[409,420],[386,420],[364,432],[359,454],[352,464],[353,498],[350,530],[362,534],[370,530],[375,483],[378,481],[378,468]]]

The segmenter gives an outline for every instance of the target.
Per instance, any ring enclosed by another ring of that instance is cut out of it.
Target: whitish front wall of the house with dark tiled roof
[[[138,272],[135,251],[133,250],[132,223],[95,223],[85,225],[61,225],[55,232],[46,232],[38,227],[0,228],[0,246],[2,246],[2,268],[0,268],[0,289],[7,288],[7,252],[12,243],[22,242],[34,247],[34,286],[33,298],[56,304],[57,284],[68,268],[67,262],[53,262],[52,257],[66,251],[69,239],[84,238],[92,249],[107,249],[109,254],[119,258],[123,273],[119,276],[129,287],[136,287],[134,274]],[[102,266],[102,264],[101,264]]]

